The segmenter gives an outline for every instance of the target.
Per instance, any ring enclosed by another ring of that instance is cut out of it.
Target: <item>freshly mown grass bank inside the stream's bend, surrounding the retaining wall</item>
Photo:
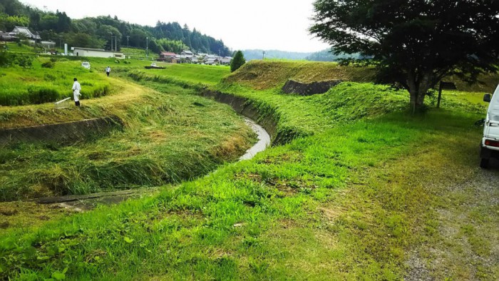
[[[237,159],[253,141],[252,131],[228,106],[195,96],[192,90],[163,86],[158,92],[125,81],[122,85],[123,93],[56,111],[58,115],[45,106],[11,108],[5,123],[19,121],[19,116],[28,116],[25,125],[118,116],[125,128],[73,145],[20,143],[3,148],[0,200],[179,183]]]

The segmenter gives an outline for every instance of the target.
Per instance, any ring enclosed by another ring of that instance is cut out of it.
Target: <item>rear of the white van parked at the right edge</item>
[[[493,96],[486,93],[483,101],[490,103],[483,124],[483,138],[480,150],[480,167],[488,168],[490,158],[499,159],[499,86]]]

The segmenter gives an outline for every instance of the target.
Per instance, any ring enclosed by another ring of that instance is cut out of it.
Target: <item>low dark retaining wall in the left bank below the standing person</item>
[[[0,145],[16,142],[48,141],[71,143],[95,134],[123,128],[117,116],[25,128],[0,129]]]

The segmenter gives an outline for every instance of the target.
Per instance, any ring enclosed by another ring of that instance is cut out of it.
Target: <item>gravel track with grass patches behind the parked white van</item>
[[[428,231],[428,241],[408,253],[406,280],[498,280],[499,163],[491,164],[443,190],[436,233]]]

